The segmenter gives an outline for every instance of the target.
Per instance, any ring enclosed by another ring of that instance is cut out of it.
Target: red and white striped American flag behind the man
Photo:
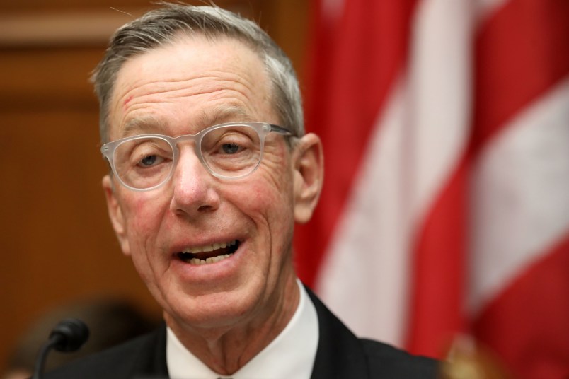
[[[320,0],[296,264],[360,336],[569,377],[569,1]]]

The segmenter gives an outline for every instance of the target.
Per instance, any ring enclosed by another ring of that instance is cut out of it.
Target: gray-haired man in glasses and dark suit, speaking
[[[321,142],[255,23],[166,4],[115,33],[93,82],[110,219],[165,325],[48,378],[435,375],[355,337],[297,279],[293,228],[321,192]]]

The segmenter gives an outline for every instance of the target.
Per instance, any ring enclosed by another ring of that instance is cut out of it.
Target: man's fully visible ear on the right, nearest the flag
[[[313,133],[304,135],[294,143],[294,221],[306,223],[312,217],[322,190],[322,143]]]

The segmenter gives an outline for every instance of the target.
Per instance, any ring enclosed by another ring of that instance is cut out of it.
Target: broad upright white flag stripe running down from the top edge
[[[456,168],[469,139],[471,13],[466,0],[423,1],[410,57],[411,115],[406,153],[413,156],[411,215],[416,221]],[[449,33],[449,31],[452,31]]]

